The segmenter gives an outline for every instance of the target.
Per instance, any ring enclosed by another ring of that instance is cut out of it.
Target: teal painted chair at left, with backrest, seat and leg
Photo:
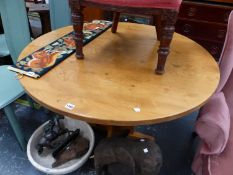
[[[31,42],[28,18],[24,0],[0,0],[0,14],[4,28],[7,48],[16,63],[20,52]],[[0,50],[5,46],[0,45]],[[20,124],[15,116],[11,103],[25,92],[14,72],[7,66],[0,66],[0,109],[3,109],[15,136],[22,148],[26,150],[26,141]]]

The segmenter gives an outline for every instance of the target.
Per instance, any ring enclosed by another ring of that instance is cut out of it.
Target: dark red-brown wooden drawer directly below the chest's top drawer
[[[223,43],[225,40],[227,25],[205,23],[192,20],[179,19],[176,23],[176,32],[192,38],[205,39]]]

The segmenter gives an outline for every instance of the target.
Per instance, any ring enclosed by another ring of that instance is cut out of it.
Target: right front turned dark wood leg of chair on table
[[[175,32],[175,23],[178,12],[175,10],[164,10],[161,13],[161,38],[158,49],[157,74],[164,73],[167,56],[170,52],[170,43]]]

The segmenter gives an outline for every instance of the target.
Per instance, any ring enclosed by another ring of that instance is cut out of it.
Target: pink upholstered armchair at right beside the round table
[[[219,86],[196,122],[201,138],[192,165],[196,175],[233,175],[233,11],[219,67]]]

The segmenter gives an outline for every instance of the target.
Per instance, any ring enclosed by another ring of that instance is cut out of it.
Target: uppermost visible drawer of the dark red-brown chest
[[[233,7],[223,5],[183,1],[179,17],[208,22],[227,23],[232,9]]]

